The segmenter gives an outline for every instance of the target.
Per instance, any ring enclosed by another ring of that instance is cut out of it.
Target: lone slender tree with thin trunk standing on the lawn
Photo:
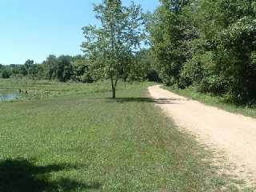
[[[143,33],[142,10],[132,3],[122,6],[121,0],[103,0],[94,6],[100,26],[85,26],[86,41],[82,50],[90,60],[97,78],[110,78],[112,98],[115,98],[118,80],[129,72],[130,59],[141,45]]]

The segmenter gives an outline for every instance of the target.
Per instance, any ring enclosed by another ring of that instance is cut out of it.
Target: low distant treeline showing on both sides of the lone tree
[[[92,69],[92,61],[82,55],[50,55],[40,64],[27,60],[22,65],[0,64],[0,78],[32,78],[38,80],[54,80],[59,82],[95,82],[99,77]],[[124,81],[159,81],[153,69],[154,58],[148,50],[141,50],[130,61],[129,71],[123,73]]]

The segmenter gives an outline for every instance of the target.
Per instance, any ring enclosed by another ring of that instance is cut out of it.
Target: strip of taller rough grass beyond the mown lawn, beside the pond
[[[136,83],[132,84],[136,86]],[[132,89],[130,85],[128,88]],[[126,83],[120,82],[119,89],[126,89]],[[74,94],[93,94],[104,93],[110,91],[110,83],[106,81],[96,82],[94,84],[84,83],[62,83],[62,82],[49,82],[49,81],[36,81],[31,79],[13,78],[1,79],[0,90],[22,90],[23,100],[34,98],[53,98],[60,95],[74,95]],[[27,94],[24,94],[25,90]]]

